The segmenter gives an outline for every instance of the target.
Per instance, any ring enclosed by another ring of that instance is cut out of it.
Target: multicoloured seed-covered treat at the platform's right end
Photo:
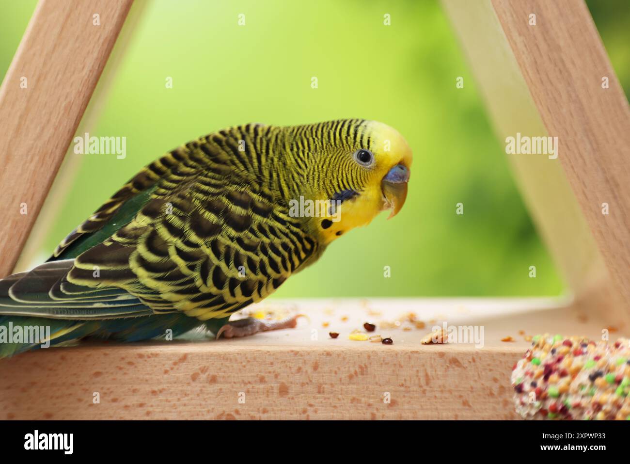
[[[626,420],[630,415],[630,340],[536,335],[512,369],[524,419]]]

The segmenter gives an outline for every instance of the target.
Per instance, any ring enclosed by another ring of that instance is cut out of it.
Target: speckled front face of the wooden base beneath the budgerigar
[[[470,349],[440,346],[394,351],[392,355],[392,349],[370,344],[364,349],[319,346],[299,351],[217,344],[209,351],[192,343],[50,350],[3,367],[0,417],[517,418],[510,368],[497,368],[512,366],[516,352],[488,351],[482,357]],[[489,375],[479,379],[479,371]],[[477,380],[471,382],[471,377]],[[95,393],[98,404],[93,403]],[[384,402],[387,394],[390,403]]]

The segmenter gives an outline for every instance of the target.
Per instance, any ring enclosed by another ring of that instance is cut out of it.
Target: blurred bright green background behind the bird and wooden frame
[[[1,76],[36,3],[0,0]],[[630,7],[588,6],[627,92]],[[463,89],[455,88],[457,76]],[[182,142],[233,124],[343,117],[381,120],[406,137],[415,156],[406,206],[396,219],[382,214],[336,241],[275,297],[563,291],[436,1],[149,1],[90,131],[127,137],[127,157],[68,154],[79,175],[40,258],[141,166]],[[458,202],[463,216],[455,214]]]

